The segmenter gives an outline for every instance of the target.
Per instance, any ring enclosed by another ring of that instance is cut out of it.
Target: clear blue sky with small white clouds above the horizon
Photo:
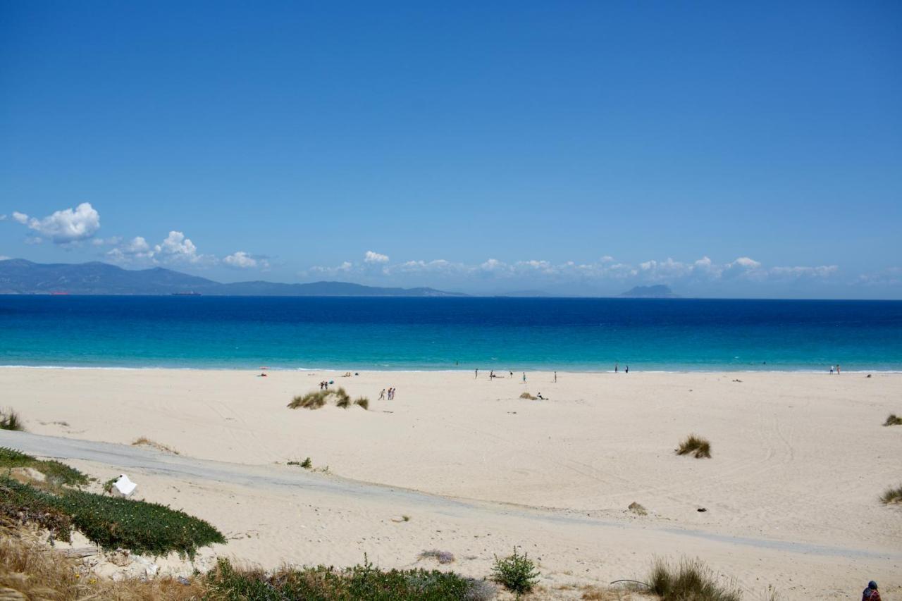
[[[902,298],[902,4],[2,2],[0,215],[220,281]]]

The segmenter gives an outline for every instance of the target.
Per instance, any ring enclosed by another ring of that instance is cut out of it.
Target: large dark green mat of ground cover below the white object
[[[199,547],[226,538],[209,523],[165,505],[94,495],[80,490],[57,494],[10,478],[0,479],[3,511],[20,522],[37,522],[63,541],[72,528],[106,550],[193,558]]]

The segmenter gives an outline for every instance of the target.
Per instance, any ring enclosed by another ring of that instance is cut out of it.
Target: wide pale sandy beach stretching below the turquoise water
[[[749,598],[850,598],[869,579],[902,593],[902,374],[339,372],[0,369],[33,434],[131,445],[146,437],[273,478],[352,480],[442,497],[299,493],[134,469],[139,498],[183,508],[276,566],[419,565],[453,552],[485,576],[521,545],[548,598],[644,574],[654,556],[704,559]],[[286,407],[334,380],[360,407]],[[394,387],[394,400],[377,400]],[[544,400],[521,399],[541,393]],[[710,459],[677,457],[695,433]],[[286,465],[311,458],[327,473]],[[73,461],[99,479],[121,467]],[[391,490],[391,489],[390,489]],[[627,506],[637,502],[644,516]],[[704,508],[704,512],[699,512]],[[408,516],[405,521],[402,516]],[[420,562],[422,563],[422,562]]]

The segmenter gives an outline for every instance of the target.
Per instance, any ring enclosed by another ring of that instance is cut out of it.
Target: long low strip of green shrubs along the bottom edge
[[[205,577],[210,598],[253,601],[485,601],[480,581],[454,572],[425,569],[374,568],[363,565],[336,569],[282,568],[273,573],[260,569],[237,569],[228,559],[219,559]],[[493,591],[492,591],[493,596]]]

